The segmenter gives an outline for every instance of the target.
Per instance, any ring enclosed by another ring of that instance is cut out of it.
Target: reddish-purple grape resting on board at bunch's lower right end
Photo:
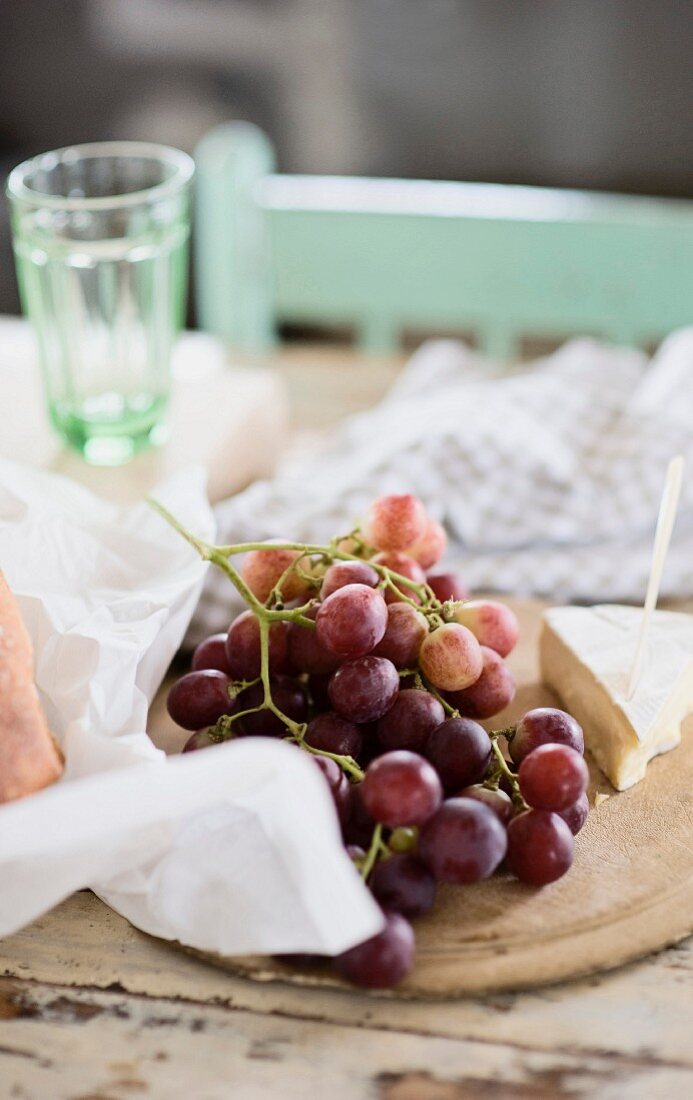
[[[520,882],[554,882],[570,868],[574,851],[573,834],[558,814],[528,810],[508,825],[507,866]]]

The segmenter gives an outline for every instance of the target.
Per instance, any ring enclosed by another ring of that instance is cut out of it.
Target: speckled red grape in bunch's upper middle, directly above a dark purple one
[[[365,657],[385,634],[387,606],[366,584],[346,584],[324,600],[316,616],[320,645],[350,660]]]

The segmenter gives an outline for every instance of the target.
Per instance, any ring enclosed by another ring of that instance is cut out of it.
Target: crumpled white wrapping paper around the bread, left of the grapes
[[[201,471],[157,496],[211,537]],[[0,935],[81,887],[223,954],[334,954],[381,927],[305,754],[248,738],[166,759],[148,739],[205,566],[147,505],[0,462],[0,568],[67,760],[59,783],[0,806]]]

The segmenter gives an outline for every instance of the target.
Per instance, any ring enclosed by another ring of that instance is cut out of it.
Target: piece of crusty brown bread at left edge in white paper
[[[0,571],[0,803],[54,783],[63,773],[34,685],[31,639]]]

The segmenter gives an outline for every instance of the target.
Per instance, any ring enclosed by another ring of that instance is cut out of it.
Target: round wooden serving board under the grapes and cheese
[[[556,704],[538,680],[543,605],[513,606],[521,624],[509,662],[518,692],[488,724],[496,728],[531,706]],[[185,738],[164,715],[157,701],[152,735],[175,751]],[[438,998],[541,986],[610,969],[693,932],[693,721],[681,746],[653,760],[631,790],[615,792],[594,766],[591,776],[593,809],[576,837],[569,873],[543,889],[503,875],[470,887],[441,887],[433,911],[416,922],[413,974],[385,996]],[[195,954],[257,981],[351,988],[327,965],[298,969],[273,958]]]

